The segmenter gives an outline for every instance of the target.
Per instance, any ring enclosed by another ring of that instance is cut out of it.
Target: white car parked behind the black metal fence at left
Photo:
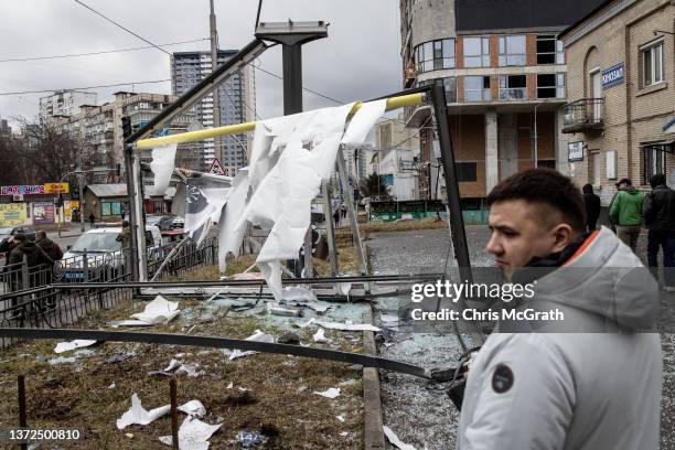
[[[93,228],[83,234],[68,246],[67,251],[60,261],[57,274],[65,281],[84,281],[84,253],[87,253],[87,279],[107,280],[124,274],[127,265],[128,249],[117,240],[122,232],[121,227]],[[152,239],[148,246],[148,262],[160,260],[163,257],[163,239],[158,226],[147,225],[146,233]]]

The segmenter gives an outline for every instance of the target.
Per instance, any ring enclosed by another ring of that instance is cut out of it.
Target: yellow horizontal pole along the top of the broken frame
[[[409,94],[399,97],[387,99],[387,110],[403,108],[404,106],[414,106],[422,103],[422,94]],[[361,105],[357,101],[352,109],[352,114],[356,113]],[[136,142],[137,150],[153,149],[156,147],[167,146],[174,142],[194,142],[218,136],[238,135],[246,131],[253,131],[256,128],[256,122],[245,122],[237,125],[228,125],[225,127],[207,128],[205,130],[181,132],[179,135],[162,136],[160,138],[141,139]]]

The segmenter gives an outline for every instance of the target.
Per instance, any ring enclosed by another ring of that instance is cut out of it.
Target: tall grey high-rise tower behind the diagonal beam
[[[219,50],[218,65],[225,63],[237,51]],[[171,57],[171,81],[174,95],[182,95],[212,72],[211,52],[176,52]],[[218,87],[217,106],[221,110],[221,126],[255,120],[255,76],[254,68],[246,66],[232,75]],[[213,95],[204,97],[196,106],[196,120],[205,128],[214,126]],[[226,168],[240,168],[248,164],[248,148],[251,138],[247,135],[233,135],[201,142],[202,164],[208,167],[218,158]]]

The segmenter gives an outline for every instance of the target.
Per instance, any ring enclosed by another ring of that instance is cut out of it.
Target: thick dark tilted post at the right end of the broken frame
[[[443,163],[446,195],[448,197],[448,208],[450,210],[451,237],[452,245],[454,246],[454,255],[459,265],[459,272],[462,278],[461,281],[473,282],[471,260],[469,259],[469,247],[467,245],[467,231],[464,229],[464,218],[460,204],[454,152],[452,150],[452,139],[450,138],[450,124],[448,124],[448,104],[446,103],[443,86],[433,85],[431,88],[431,100],[433,103],[436,129]]]

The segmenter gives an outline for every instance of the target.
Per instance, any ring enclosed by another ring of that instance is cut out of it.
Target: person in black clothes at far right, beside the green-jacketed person
[[[658,247],[663,250],[665,290],[675,292],[675,191],[663,173],[650,179],[652,192],[645,196],[642,216],[647,228],[647,264],[657,277]]]

